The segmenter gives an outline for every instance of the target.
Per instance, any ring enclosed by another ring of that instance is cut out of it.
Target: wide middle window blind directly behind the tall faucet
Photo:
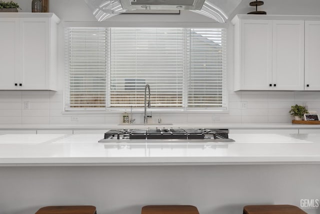
[[[152,107],[182,107],[184,31],[111,28],[110,107],[143,107],[150,85]]]

